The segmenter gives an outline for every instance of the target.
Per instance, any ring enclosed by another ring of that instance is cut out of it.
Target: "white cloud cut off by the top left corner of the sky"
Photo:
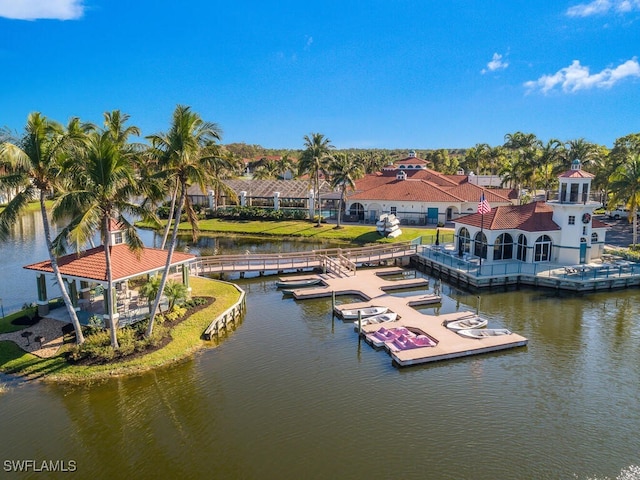
[[[83,0],[0,0],[0,17],[15,20],[76,20],[84,13]]]

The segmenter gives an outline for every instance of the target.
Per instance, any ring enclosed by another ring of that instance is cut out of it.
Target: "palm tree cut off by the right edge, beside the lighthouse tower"
[[[620,165],[609,179],[611,199],[609,209],[616,205],[629,208],[633,219],[633,245],[638,243],[638,207],[640,207],[640,153],[633,153],[628,161]]]

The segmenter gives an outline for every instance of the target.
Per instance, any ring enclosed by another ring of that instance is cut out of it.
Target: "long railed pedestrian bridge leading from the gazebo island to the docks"
[[[358,266],[378,265],[415,255],[415,242],[374,245],[360,248],[329,248],[305,252],[214,255],[198,257],[192,269],[198,275],[245,272],[305,270],[318,268],[337,276],[355,275]]]

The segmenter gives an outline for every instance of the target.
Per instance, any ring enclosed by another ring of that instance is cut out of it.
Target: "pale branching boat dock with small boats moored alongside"
[[[405,270],[397,267],[359,269],[355,277],[336,277],[332,275],[318,275],[325,284],[322,287],[310,287],[293,290],[294,298],[304,300],[308,298],[329,297],[334,295],[358,295],[362,302],[335,305],[337,314],[341,310],[358,309],[364,307],[387,307],[398,314],[398,320],[384,324],[365,325],[361,334],[374,332],[385,328],[406,327],[409,330],[424,334],[435,341],[435,347],[414,348],[392,352],[391,358],[398,366],[410,366],[423,363],[447,360],[482,353],[495,352],[527,345],[528,340],[516,333],[486,337],[482,339],[465,338],[446,328],[443,323],[458,320],[473,315],[473,312],[455,312],[443,315],[426,315],[416,311],[413,307],[440,302],[441,298],[428,291],[429,282],[424,278],[408,278],[388,280],[389,275],[398,275]],[[289,280],[292,277],[287,277]],[[309,278],[305,275],[304,278]],[[425,292],[414,296],[399,297],[386,293],[402,288],[424,287]],[[354,322],[356,329],[358,321]],[[491,326],[491,325],[490,325]]]

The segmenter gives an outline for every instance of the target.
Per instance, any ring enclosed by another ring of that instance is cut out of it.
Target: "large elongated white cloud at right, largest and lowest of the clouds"
[[[568,67],[552,75],[543,75],[537,80],[525,82],[524,86],[529,92],[540,90],[542,93],[548,93],[558,87],[565,93],[574,93],[594,87],[610,88],[627,77],[640,77],[640,64],[636,57],[615,68],[605,68],[594,74],[589,73],[589,67],[584,67],[580,65],[580,61],[574,60]]]

